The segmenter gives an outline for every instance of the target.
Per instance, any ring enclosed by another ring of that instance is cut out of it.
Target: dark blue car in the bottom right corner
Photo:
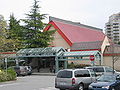
[[[120,90],[120,74],[104,74],[89,85],[89,90]]]

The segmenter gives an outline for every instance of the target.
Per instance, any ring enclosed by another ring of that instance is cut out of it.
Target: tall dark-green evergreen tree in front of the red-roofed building
[[[46,14],[41,14],[38,1],[34,0],[29,14],[26,14],[26,19],[23,19],[24,26],[24,46],[25,48],[47,47],[49,42],[53,40],[53,31],[42,32],[45,24],[42,22],[46,18]]]

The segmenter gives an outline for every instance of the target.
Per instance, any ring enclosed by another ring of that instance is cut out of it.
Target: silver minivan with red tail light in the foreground
[[[55,78],[55,88],[60,90],[83,90],[95,81],[95,73],[90,69],[63,69]]]

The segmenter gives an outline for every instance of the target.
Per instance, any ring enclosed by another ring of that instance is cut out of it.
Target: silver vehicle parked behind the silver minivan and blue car
[[[103,73],[111,73],[113,72],[113,69],[111,67],[108,66],[89,66],[89,67],[85,67],[86,69],[92,69],[97,76],[102,75]],[[119,73],[116,70],[114,70],[114,73]]]

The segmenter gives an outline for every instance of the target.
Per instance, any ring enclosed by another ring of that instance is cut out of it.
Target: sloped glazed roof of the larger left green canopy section
[[[58,56],[61,52],[65,52],[62,47],[47,47],[47,48],[29,48],[21,49],[17,52],[17,57],[49,57]]]

